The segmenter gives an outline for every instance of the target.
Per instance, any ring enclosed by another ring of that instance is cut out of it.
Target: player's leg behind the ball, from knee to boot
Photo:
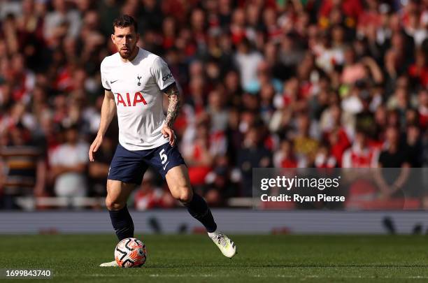
[[[127,200],[134,187],[135,184],[107,180],[106,207],[119,240],[134,237],[134,223],[127,209]],[[117,263],[110,261],[101,263],[100,266],[117,266]]]

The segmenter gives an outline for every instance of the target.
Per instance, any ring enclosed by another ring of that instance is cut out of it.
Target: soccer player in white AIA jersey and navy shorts
[[[157,170],[174,198],[178,199],[208,231],[208,236],[224,256],[236,254],[236,245],[217,231],[211,210],[204,198],[190,187],[185,161],[176,147],[172,126],[180,109],[180,93],[165,61],[138,48],[138,25],[129,15],[113,22],[111,40],[118,52],[101,63],[101,80],[105,89],[101,122],[89,151],[94,161],[104,134],[115,112],[119,123],[119,145],[107,177],[106,206],[119,240],[134,237],[134,223],[127,209],[127,198],[141,184],[148,166]],[[169,98],[166,117],[163,96]],[[117,266],[116,261],[101,266]]]

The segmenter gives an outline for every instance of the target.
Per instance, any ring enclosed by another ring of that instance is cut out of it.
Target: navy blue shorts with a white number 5
[[[113,157],[108,180],[118,180],[131,184],[141,184],[148,166],[152,166],[165,179],[169,169],[185,164],[176,146],[165,143],[151,150],[127,150],[118,144]]]

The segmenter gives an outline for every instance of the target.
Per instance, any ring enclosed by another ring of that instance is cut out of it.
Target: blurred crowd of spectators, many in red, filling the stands
[[[178,82],[174,128],[211,205],[251,196],[252,168],[428,166],[427,0],[3,0],[3,208],[106,194],[117,122],[87,151],[120,14]],[[175,205],[150,172],[133,202]]]

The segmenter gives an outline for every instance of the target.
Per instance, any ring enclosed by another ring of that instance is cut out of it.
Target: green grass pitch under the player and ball
[[[424,236],[235,235],[234,259],[206,235],[136,237],[148,247],[143,268],[99,267],[113,260],[113,235],[1,235],[0,268],[51,268],[43,282],[428,281]]]

